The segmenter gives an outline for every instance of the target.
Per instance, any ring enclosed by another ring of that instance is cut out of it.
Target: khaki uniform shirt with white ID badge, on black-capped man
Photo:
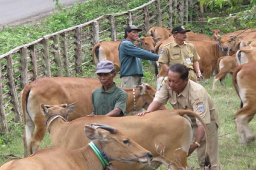
[[[175,41],[166,44],[160,52],[158,62],[167,65],[184,64],[187,68],[194,69],[193,63],[200,59],[195,46],[192,43],[184,42],[182,47]]]

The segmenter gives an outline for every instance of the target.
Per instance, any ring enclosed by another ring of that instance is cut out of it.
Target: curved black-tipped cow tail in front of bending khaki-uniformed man
[[[206,124],[204,123],[203,119],[198,116],[197,113],[195,113],[194,111],[190,111],[190,110],[175,110],[175,111],[178,111],[178,113],[180,114],[180,116],[183,116],[183,115],[191,115],[191,116],[194,116],[196,117],[200,122],[201,124],[203,125],[204,127],[204,132],[205,132],[205,138],[206,138],[206,150],[205,150],[205,162],[204,162],[204,166],[206,167],[211,167],[211,163],[210,163],[210,157],[209,157],[209,150],[210,150],[210,139],[209,139],[209,130],[206,126]]]

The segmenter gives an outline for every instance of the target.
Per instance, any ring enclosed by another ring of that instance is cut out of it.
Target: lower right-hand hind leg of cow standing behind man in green
[[[41,141],[44,138],[44,135],[46,133],[46,126],[44,125],[44,123],[35,123],[36,127],[35,127],[35,134],[31,139],[31,150],[30,153],[35,153],[36,151],[38,151]]]

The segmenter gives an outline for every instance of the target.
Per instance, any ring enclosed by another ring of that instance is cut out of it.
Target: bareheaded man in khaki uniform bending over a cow
[[[139,116],[156,111],[162,104],[169,100],[174,109],[189,109],[195,111],[209,129],[210,138],[210,162],[215,170],[220,170],[218,159],[218,111],[215,109],[214,102],[205,88],[198,83],[188,79],[189,70],[185,65],[175,64],[169,67],[168,76],[165,77],[163,87],[157,91],[153,102],[149,105],[147,111],[138,113]],[[194,117],[190,118],[193,125],[194,136],[188,156],[197,148],[198,161],[201,169],[204,169],[204,153],[206,149],[206,140],[204,136],[204,127]]]

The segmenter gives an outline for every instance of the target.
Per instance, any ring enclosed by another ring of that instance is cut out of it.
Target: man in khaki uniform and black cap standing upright
[[[158,62],[167,71],[169,65],[177,63],[186,65],[189,68],[189,79],[194,82],[202,79],[202,74],[199,68],[200,59],[195,46],[186,40],[186,32],[189,32],[184,26],[177,26],[172,29],[174,41],[166,44],[160,52]]]

